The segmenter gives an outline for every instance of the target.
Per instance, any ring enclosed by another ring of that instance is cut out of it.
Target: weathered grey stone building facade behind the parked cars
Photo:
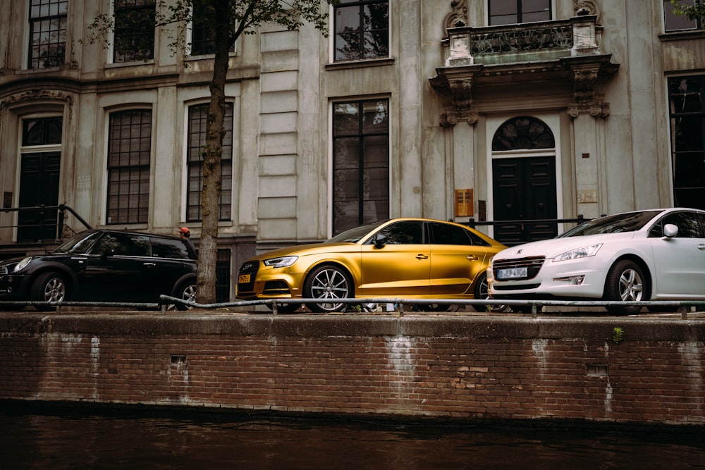
[[[4,1],[3,256],[55,235],[8,210],[42,205],[197,241],[212,43],[196,19],[175,54],[156,8]],[[100,14],[116,27],[91,43]],[[267,25],[231,52],[220,299],[248,256],[381,218],[491,221],[514,244],[705,209],[705,37],[668,0],[344,0],[329,30]]]

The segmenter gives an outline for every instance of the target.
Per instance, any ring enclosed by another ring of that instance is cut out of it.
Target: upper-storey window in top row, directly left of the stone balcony
[[[387,0],[341,0],[334,14],[336,61],[389,56]]]

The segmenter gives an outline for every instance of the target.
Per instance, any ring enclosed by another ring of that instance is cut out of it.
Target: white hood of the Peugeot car
[[[529,256],[546,256],[546,258],[551,259],[559,254],[580,247],[589,247],[608,241],[623,242],[625,240],[631,240],[637,233],[638,232],[601,233],[599,235],[551,238],[549,240],[530,242],[524,245],[516,245],[515,247],[503,249],[501,252],[494,255],[494,259],[519,259]]]

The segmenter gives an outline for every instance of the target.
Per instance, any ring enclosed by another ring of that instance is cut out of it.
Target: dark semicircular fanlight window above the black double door
[[[553,149],[551,128],[544,121],[531,116],[506,120],[492,138],[492,150]]]

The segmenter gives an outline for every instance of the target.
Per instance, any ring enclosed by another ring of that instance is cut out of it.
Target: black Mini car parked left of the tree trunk
[[[167,235],[86,230],[54,252],[0,261],[0,300],[159,302],[195,292],[195,253]]]

